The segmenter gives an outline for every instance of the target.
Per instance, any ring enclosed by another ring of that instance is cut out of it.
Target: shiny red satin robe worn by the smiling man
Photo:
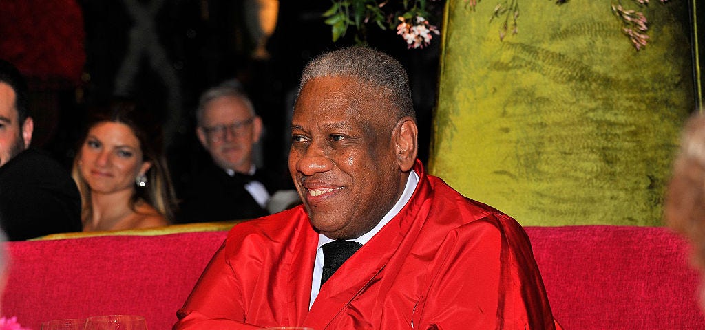
[[[415,171],[411,200],[326,281],[311,310],[319,234],[299,206],[235,226],[174,329],[555,329],[522,227],[421,163]]]

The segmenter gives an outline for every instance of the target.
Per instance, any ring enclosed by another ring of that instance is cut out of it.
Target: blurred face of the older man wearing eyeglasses
[[[262,132],[262,119],[252,115],[245,102],[221,96],[207,103],[202,127],[196,133],[213,161],[224,169],[247,173],[252,166],[252,146]]]

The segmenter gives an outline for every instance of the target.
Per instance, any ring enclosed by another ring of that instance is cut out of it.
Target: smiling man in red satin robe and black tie
[[[416,160],[396,60],[319,56],[291,127],[303,205],[235,226],[174,329],[560,329],[522,227]]]

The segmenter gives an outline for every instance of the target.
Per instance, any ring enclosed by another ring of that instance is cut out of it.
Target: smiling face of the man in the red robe
[[[413,160],[400,153],[410,149],[410,131],[415,146],[415,124],[390,107],[348,77],[314,78],[301,89],[289,171],[312,225],[331,239],[367,233],[403,192]]]

